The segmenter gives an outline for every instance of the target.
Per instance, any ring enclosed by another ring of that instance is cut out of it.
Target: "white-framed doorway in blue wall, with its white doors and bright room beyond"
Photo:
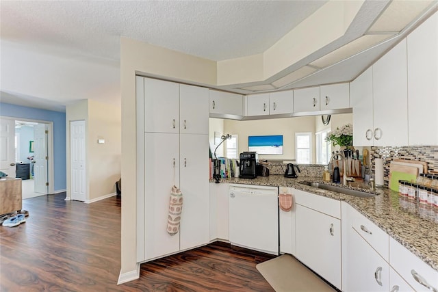
[[[53,194],[52,122],[2,116],[0,124],[2,142],[12,141],[2,168],[10,165],[8,176],[22,179],[22,198]]]

